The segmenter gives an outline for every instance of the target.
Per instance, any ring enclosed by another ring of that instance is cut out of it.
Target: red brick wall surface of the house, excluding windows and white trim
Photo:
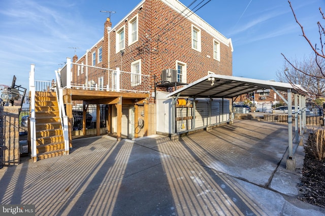
[[[138,41],[128,46],[128,22],[137,14]],[[208,75],[208,71],[216,74],[232,75],[232,48],[219,41],[220,61],[213,59],[213,39],[218,40],[218,38],[214,38],[203,28],[194,24],[194,26],[201,30],[201,52],[193,50],[191,48],[191,24],[188,19],[179,16],[176,11],[163,2],[147,0],[144,2],[143,7],[136,9],[127,17],[126,21],[122,20],[118,26],[114,26],[109,32],[109,36],[107,26],[110,23],[105,23],[104,41],[100,41],[97,45],[98,47],[103,45],[103,63],[96,66],[109,66],[111,69],[119,67],[122,71],[131,72],[131,63],[141,59],[141,73],[150,75],[150,81],[133,89],[150,91],[150,93],[154,91],[154,75],[156,76],[156,81],[159,81],[162,70],[168,68],[176,69],[176,60],[186,63],[187,83]],[[116,31],[122,26],[124,26],[125,35],[123,55],[120,53],[116,54],[115,40]],[[108,38],[110,38],[109,60],[107,58]],[[94,49],[88,53],[89,65],[91,65],[91,54]],[[81,61],[82,59],[79,62]],[[109,63],[107,64],[108,61]],[[88,74],[89,72],[90,70]],[[94,69],[91,73],[100,76],[102,71]],[[88,79],[90,80],[90,76]],[[98,79],[95,81],[98,81]],[[121,83],[131,83],[131,77],[129,75],[124,76]],[[158,90],[167,91],[166,88],[158,88]],[[152,103],[153,98],[150,98],[149,101]]]

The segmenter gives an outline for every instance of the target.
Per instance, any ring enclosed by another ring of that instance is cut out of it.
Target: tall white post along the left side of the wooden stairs
[[[30,91],[30,118],[29,118],[29,131],[30,131],[30,149],[32,162],[37,161],[36,150],[36,119],[35,119],[35,65],[30,65],[29,72],[29,91]]]

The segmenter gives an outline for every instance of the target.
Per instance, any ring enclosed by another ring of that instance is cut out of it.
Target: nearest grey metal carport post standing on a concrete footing
[[[291,89],[288,89],[288,159],[286,159],[286,169],[294,171],[296,169],[296,159],[293,158],[293,110]]]

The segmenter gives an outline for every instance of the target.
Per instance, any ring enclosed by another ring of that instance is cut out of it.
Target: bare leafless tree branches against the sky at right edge
[[[307,43],[309,44],[312,50],[313,57],[311,58],[312,60],[308,59],[303,62],[298,62],[296,60],[290,61],[284,56],[284,54],[281,53],[288,66],[285,66],[285,68],[283,68],[282,70],[283,75],[278,73],[278,78],[280,77],[283,80],[290,82],[291,84],[301,84],[302,86],[305,87],[305,89],[308,91],[309,96],[312,97],[313,99],[323,98],[325,97],[325,92],[324,92],[325,29],[324,26],[320,23],[320,21],[317,22],[318,33],[319,33],[319,47],[317,47],[317,44],[313,45],[310,39],[308,38],[308,36],[305,34],[304,27],[298,21],[293,6],[291,5],[291,2],[288,1],[288,3],[291,8],[291,11],[293,12],[296,22],[301,28],[302,36],[306,39]],[[325,20],[325,16],[321,11],[321,8],[319,8],[319,13],[321,19]],[[306,83],[303,83],[302,81]],[[311,85],[311,83],[314,84]]]

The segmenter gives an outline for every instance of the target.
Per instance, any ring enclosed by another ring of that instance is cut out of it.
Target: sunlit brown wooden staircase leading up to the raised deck
[[[64,138],[55,92],[35,93],[37,159],[64,155]]]

